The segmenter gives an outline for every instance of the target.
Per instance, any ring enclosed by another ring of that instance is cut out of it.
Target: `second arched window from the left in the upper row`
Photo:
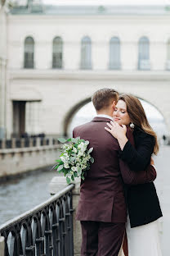
[[[52,43],[52,68],[63,67],[63,41],[60,37],[53,39]]]

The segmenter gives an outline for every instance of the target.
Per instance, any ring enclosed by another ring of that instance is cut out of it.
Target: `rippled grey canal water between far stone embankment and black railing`
[[[56,171],[34,171],[0,185],[0,225],[49,199],[48,185]],[[63,185],[58,185],[58,191]]]

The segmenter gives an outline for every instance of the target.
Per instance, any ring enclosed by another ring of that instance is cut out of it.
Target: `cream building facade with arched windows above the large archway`
[[[74,113],[103,87],[153,104],[170,130],[169,24],[169,7],[14,7],[7,137],[67,134]]]

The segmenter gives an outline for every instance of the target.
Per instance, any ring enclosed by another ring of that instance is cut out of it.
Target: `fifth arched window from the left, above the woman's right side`
[[[139,39],[138,69],[150,70],[150,41],[143,36]]]

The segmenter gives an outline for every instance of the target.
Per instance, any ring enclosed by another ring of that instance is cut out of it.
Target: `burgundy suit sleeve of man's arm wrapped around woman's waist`
[[[127,133],[129,141],[131,141],[132,147],[134,146],[134,139],[132,132],[128,130]],[[132,171],[127,162],[124,162],[119,158],[120,172],[123,177],[123,181],[128,185],[145,184],[154,181],[157,174],[153,166],[150,164],[145,168],[145,171]]]

